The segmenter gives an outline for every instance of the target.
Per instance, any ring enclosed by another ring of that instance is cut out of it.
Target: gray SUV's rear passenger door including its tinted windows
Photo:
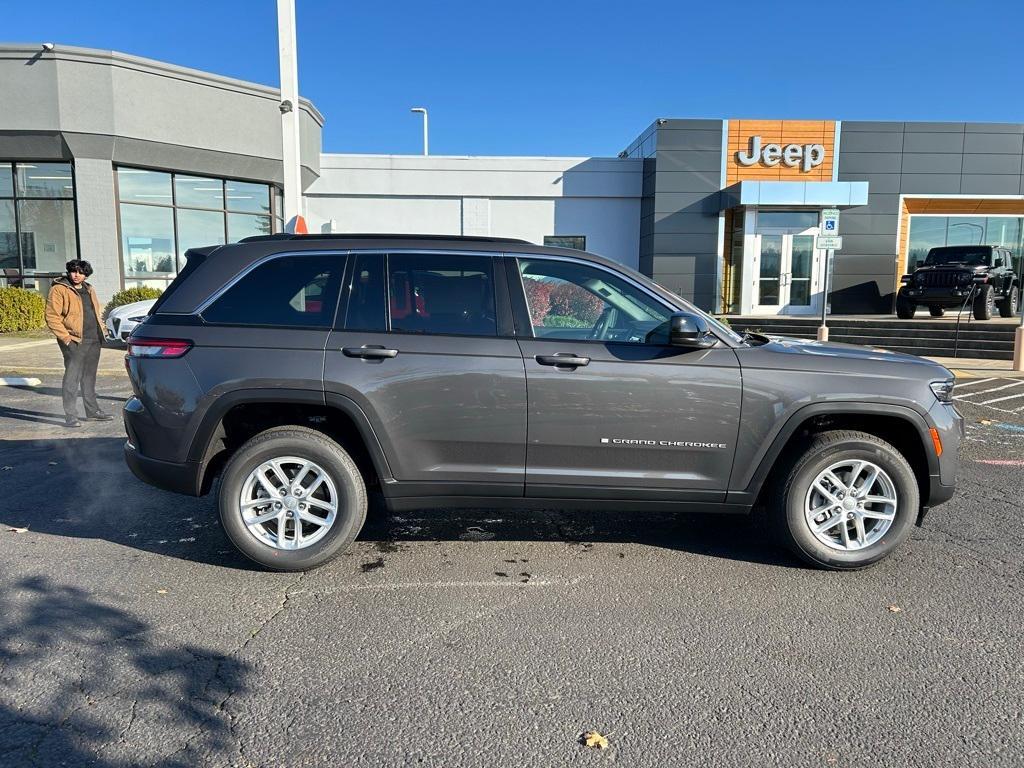
[[[328,398],[367,415],[390,496],[522,496],[526,381],[489,254],[355,253],[331,334]]]

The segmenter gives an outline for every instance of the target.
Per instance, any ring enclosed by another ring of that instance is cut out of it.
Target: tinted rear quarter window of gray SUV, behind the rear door
[[[228,326],[330,328],[344,256],[282,256],[260,264],[203,312]]]

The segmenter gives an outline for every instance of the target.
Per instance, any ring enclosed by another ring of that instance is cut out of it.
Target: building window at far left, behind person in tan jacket
[[[0,286],[46,291],[74,258],[71,163],[0,162]]]

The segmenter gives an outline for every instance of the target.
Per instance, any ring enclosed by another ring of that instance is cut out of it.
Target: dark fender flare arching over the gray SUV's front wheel
[[[793,437],[797,430],[799,430],[810,419],[817,416],[850,415],[884,416],[888,418],[902,419],[903,421],[908,422],[913,426],[918,439],[921,440],[925,457],[928,461],[929,474],[937,475],[939,473],[939,460],[935,456],[934,451],[929,451],[929,447],[932,444],[932,435],[930,432],[931,427],[925,417],[913,409],[907,408],[906,406],[897,406],[887,402],[856,402],[846,400],[812,402],[798,409],[790,416],[788,419],[786,419],[782,428],[776,432],[771,445],[768,446],[768,451],[765,452],[765,454],[761,457],[760,462],[758,462],[757,468],[751,475],[745,487],[736,490],[729,490],[727,501],[729,503],[746,503],[753,505],[757,501],[762,486],[768,479],[769,473],[775,466],[778,458],[782,455],[782,451],[790,441],[790,438]]]

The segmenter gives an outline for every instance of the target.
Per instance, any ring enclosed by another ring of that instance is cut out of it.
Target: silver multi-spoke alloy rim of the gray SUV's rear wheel
[[[318,464],[297,456],[260,462],[239,496],[249,532],[274,549],[298,550],[321,541],[338,517],[338,489]]]

